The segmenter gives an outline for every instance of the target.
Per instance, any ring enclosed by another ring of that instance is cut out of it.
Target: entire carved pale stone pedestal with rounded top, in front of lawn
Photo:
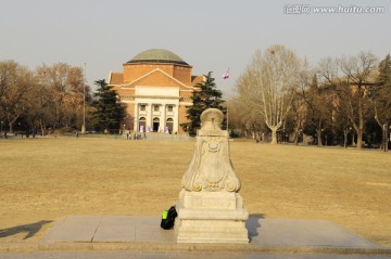
[[[201,115],[194,153],[182,178],[176,205],[178,243],[249,243],[249,218],[238,193],[240,181],[229,157],[224,115],[209,108]]]

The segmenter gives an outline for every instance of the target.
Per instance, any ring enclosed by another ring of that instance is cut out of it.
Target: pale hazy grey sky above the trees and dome
[[[360,13],[365,8],[383,12]],[[257,49],[283,44],[312,66],[361,51],[382,60],[391,52],[390,24],[388,0],[0,0],[0,61],[80,66],[92,86],[138,53],[166,49],[193,75],[213,72],[229,98]]]

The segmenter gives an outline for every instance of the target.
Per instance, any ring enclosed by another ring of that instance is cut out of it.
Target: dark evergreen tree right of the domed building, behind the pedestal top
[[[195,90],[191,96],[192,106],[187,107],[187,118],[190,120],[188,124],[182,124],[181,127],[189,132],[194,133],[197,129],[201,128],[200,116],[202,112],[207,108],[218,108],[226,114],[226,108],[223,107],[225,102],[222,96],[223,92],[216,89],[216,83],[212,77],[212,72],[204,75],[205,80],[195,85]],[[225,124],[223,124],[223,127]]]

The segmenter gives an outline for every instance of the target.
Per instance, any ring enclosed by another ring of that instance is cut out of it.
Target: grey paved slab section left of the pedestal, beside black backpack
[[[54,223],[42,243],[176,243],[159,217],[70,216]]]

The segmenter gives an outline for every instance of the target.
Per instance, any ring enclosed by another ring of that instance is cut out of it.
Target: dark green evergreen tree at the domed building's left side
[[[92,106],[93,125],[97,130],[119,129],[119,122],[125,117],[125,107],[117,103],[117,93],[105,80],[94,82],[98,90],[93,93],[96,101]]]

